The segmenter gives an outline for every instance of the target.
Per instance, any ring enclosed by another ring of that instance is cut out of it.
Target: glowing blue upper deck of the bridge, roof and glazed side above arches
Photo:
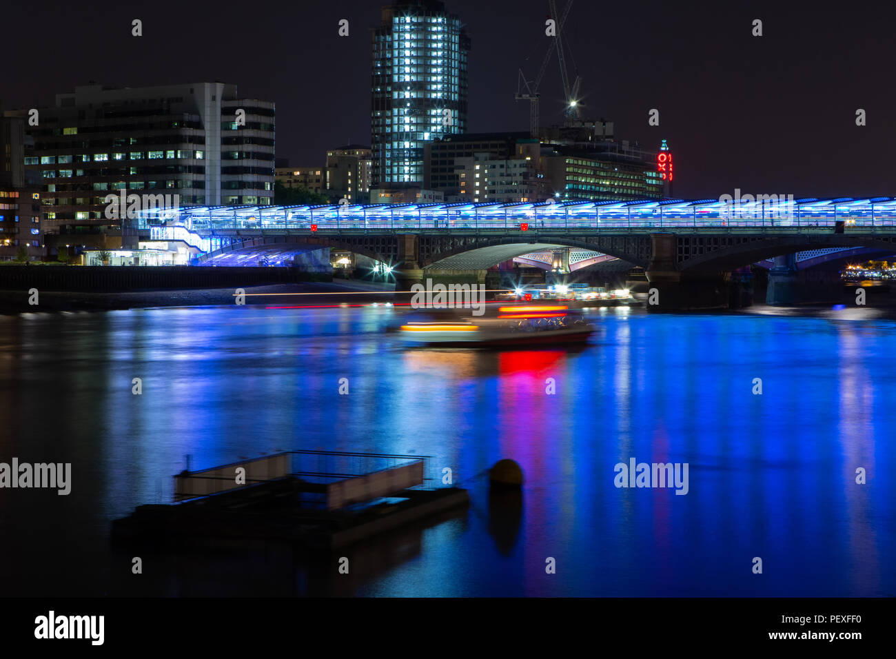
[[[836,197],[726,204],[717,200],[457,204],[186,206],[141,213],[143,229],[216,230],[499,230],[663,227],[811,227],[835,221],[896,227],[896,197]],[[206,234],[207,235],[207,234]]]

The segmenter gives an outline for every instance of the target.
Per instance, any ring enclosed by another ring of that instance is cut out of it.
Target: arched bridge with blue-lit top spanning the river
[[[510,259],[550,267],[550,256],[537,255],[565,249],[566,272],[617,260],[644,268],[650,282],[678,282],[749,264],[795,271],[891,255],[896,197],[195,206],[143,212],[138,226],[142,238],[196,247],[197,264],[332,247],[415,280],[423,271],[485,270]]]

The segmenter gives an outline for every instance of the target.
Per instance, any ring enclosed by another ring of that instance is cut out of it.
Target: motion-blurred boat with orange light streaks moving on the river
[[[401,325],[409,346],[502,347],[584,343],[594,326],[565,305],[513,305],[492,317],[430,317]]]

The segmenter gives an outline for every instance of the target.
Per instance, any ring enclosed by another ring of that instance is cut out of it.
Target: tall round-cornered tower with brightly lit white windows
[[[372,186],[421,187],[425,144],[467,128],[470,38],[440,0],[396,0],[373,39]]]

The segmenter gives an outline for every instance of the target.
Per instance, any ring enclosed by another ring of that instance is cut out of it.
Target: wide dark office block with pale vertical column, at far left
[[[34,139],[25,164],[42,178],[47,230],[120,236],[105,199],[122,191],[177,195],[183,205],[272,202],[274,104],[240,99],[236,85],[90,84],[38,109],[39,125],[25,127]]]

